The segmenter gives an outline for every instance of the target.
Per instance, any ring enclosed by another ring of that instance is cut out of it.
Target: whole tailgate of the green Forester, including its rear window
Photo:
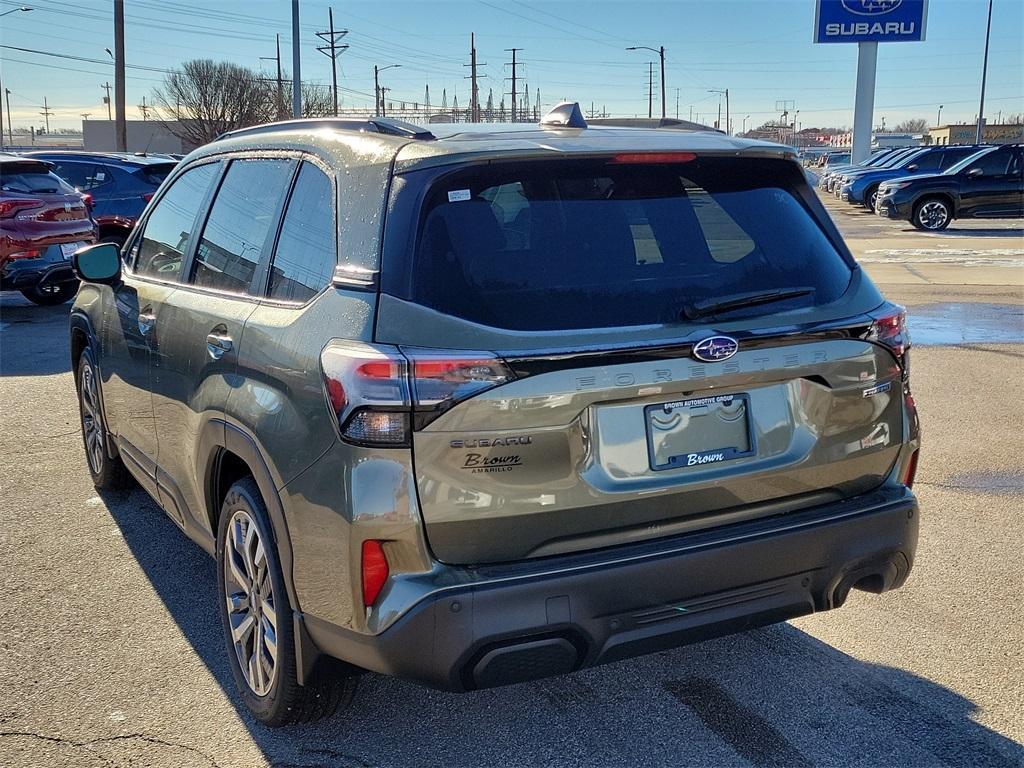
[[[376,341],[412,360],[414,393],[421,358],[431,386],[450,371],[445,391],[472,393],[417,403],[440,560],[781,514],[892,469],[897,356],[826,330],[883,299],[795,163],[631,153],[394,188]]]

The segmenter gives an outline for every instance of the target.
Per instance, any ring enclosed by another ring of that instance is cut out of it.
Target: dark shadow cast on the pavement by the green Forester
[[[1024,748],[974,722],[977,707],[968,698],[860,662],[790,625],[468,694],[368,674],[348,711],[270,729],[236,692],[212,560],[143,492],[101,496],[273,766],[1024,763]],[[187,746],[202,752],[204,743]]]

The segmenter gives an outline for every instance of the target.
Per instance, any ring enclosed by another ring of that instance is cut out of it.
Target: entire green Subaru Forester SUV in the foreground
[[[904,314],[790,147],[574,104],[257,126],[74,266],[92,479],[217,559],[266,723],[366,671],[506,685],[910,569]]]

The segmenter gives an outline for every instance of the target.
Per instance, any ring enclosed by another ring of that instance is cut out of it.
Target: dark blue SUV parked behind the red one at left
[[[92,196],[92,217],[102,243],[119,246],[146,204],[167,178],[176,160],[124,153],[33,152],[28,157],[46,160],[53,171],[80,193]]]

